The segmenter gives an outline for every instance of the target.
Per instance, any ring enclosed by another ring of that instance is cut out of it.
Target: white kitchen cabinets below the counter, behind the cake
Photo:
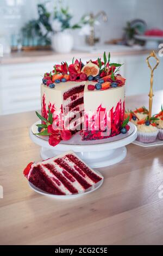
[[[80,53],[82,56],[82,53]],[[99,54],[97,54],[98,57]],[[124,63],[121,67],[121,75],[126,77],[126,95],[146,93],[150,86],[150,71],[146,64],[148,54],[133,56],[112,56],[111,62]],[[23,57],[22,57],[23,58]],[[95,59],[95,55],[92,59]],[[86,62],[86,58],[82,59]],[[57,63],[60,63],[57,60]],[[71,59],[66,59],[71,62]],[[55,62],[55,60],[54,60]],[[22,64],[0,65],[0,114],[12,114],[18,112],[39,109],[40,83],[46,71],[52,70],[54,62],[32,62]],[[162,70],[163,60],[154,71],[154,90],[163,89]],[[162,99],[163,103],[163,99]]]

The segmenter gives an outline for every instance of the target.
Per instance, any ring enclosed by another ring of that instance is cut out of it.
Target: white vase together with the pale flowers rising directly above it
[[[52,48],[56,52],[68,53],[73,47],[72,29],[80,28],[78,24],[71,25],[72,15],[68,7],[61,5],[54,8],[54,17],[52,21]]]

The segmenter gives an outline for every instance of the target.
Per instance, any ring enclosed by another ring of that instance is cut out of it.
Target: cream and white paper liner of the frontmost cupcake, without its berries
[[[138,124],[136,141],[140,141],[142,143],[155,142],[158,136],[158,132],[159,131],[157,127],[153,126],[152,124]]]

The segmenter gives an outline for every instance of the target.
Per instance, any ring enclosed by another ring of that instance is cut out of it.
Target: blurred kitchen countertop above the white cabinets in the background
[[[109,46],[106,45],[108,49]],[[111,57],[117,56],[134,56],[149,54],[152,50],[130,50],[130,51],[117,51],[111,52]],[[91,59],[97,57],[103,57],[103,52],[98,50],[96,53],[82,52],[82,51],[72,51],[70,53],[62,54],[56,53],[53,51],[22,51],[22,52],[13,52],[9,55],[5,55],[0,58],[1,64],[19,64],[19,63],[32,63],[32,62],[60,62],[60,60],[69,60],[74,58]]]

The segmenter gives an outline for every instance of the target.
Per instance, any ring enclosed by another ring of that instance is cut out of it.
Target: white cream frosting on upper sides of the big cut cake
[[[49,102],[54,104],[55,109],[60,111],[61,105],[64,106],[63,94],[74,87],[84,85],[84,110],[89,111],[97,111],[97,108],[102,105],[102,107],[106,108],[108,111],[113,107],[117,106],[118,102],[124,102],[125,96],[125,87],[116,87],[107,90],[88,90],[87,85],[93,84],[95,85],[97,82],[92,81],[82,81],[82,82],[66,82],[55,84],[55,88],[49,88],[43,84],[41,84],[41,100],[42,96],[45,94],[45,103],[46,108],[48,108]],[[67,102],[65,102],[67,103]]]

